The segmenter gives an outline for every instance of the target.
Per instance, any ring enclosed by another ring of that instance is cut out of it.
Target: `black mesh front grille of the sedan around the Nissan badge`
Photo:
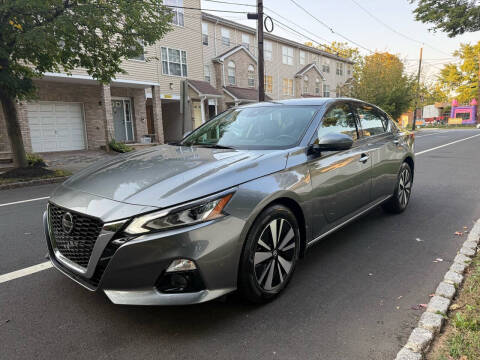
[[[92,255],[95,241],[102,230],[102,222],[96,218],[71,212],[73,229],[64,231],[63,216],[69,212],[59,206],[49,204],[51,235],[57,250],[67,259],[86,268]]]

